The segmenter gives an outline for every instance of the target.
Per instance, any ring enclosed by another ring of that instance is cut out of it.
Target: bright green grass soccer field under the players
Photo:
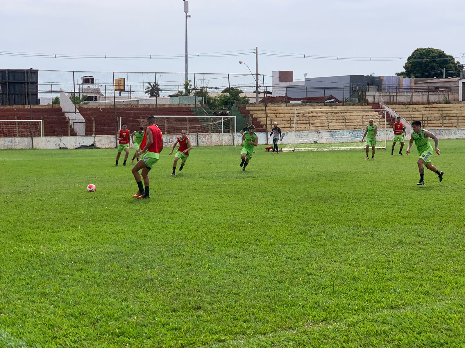
[[[0,150],[0,347],[464,347],[464,146]]]

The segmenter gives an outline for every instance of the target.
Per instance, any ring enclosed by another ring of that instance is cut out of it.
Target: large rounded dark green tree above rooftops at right
[[[407,58],[405,71],[397,72],[397,76],[442,78],[445,68],[445,77],[458,77],[463,71],[463,65],[455,61],[454,57],[445,54],[437,48],[417,48]]]

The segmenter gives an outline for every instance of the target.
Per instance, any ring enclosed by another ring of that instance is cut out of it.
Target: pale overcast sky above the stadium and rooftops
[[[86,55],[184,54],[182,0],[0,0],[2,51]],[[461,56],[463,0],[190,0],[189,53],[252,50],[341,57],[407,57],[418,47]],[[460,58],[462,63],[463,58]],[[190,72],[246,73],[255,57],[191,58]],[[0,56],[1,68],[184,71],[184,59],[78,60]],[[405,61],[259,56],[259,72],[294,79],[394,75]],[[250,78],[250,77],[249,77]],[[253,81],[252,81],[253,82]],[[267,81],[267,84],[271,80]]]

